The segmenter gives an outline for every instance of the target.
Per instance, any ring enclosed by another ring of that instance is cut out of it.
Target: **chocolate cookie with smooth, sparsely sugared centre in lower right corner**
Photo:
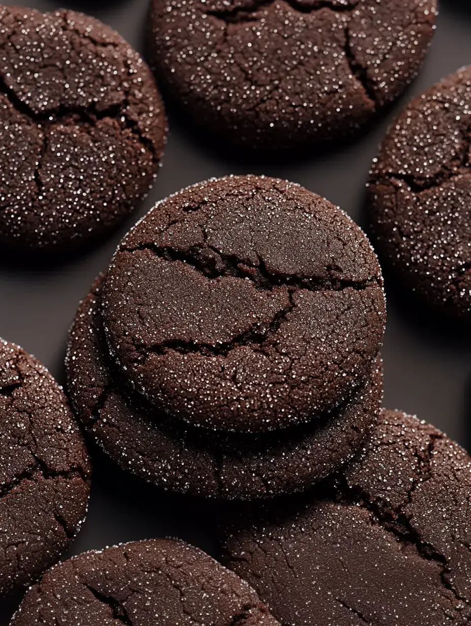
[[[383,411],[324,490],[241,518],[223,562],[287,626],[468,624],[470,472],[433,426]]]

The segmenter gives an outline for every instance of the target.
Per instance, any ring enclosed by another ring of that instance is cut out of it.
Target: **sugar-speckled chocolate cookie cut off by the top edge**
[[[243,148],[342,138],[420,68],[436,0],[153,0],[149,56],[196,124]]]

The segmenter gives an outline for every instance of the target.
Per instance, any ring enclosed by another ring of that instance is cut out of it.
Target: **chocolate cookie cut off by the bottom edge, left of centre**
[[[279,626],[233,572],[183,541],[86,552],[47,572],[11,626]]]

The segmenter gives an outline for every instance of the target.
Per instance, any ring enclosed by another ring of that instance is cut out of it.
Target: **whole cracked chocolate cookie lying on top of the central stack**
[[[385,325],[363,232],[315,193],[226,177],[158,203],[103,296],[108,344],[172,418],[256,432],[317,418],[369,376]]]

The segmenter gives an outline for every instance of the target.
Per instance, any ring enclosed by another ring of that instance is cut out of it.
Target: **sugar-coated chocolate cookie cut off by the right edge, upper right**
[[[413,100],[369,185],[378,251],[420,297],[471,319],[471,66]]]

